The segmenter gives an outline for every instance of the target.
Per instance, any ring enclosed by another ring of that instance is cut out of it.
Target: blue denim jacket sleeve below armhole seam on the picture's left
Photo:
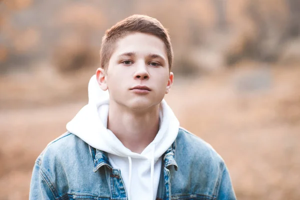
[[[29,189],[29,200],[35,199],[55,199],[55,191],[51,189],[52,184],[49,182],[40,165],[35,162]]]

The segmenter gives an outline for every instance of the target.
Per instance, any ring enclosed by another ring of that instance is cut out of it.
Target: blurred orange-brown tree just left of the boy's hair
[[[67,73],[95,65],[99,46],[91,38],[106,25],[106,17],[91,4],[76,2],[63,7],[55,19],[61,30],[52,57],[56,69]]]

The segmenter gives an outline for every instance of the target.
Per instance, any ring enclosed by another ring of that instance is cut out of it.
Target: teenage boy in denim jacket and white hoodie
[[[88,104],[36,159],[29,198],[235,199],[222,158],[179,127],[163,100],[172,58],[154,18],[132,15],[108,29]]]

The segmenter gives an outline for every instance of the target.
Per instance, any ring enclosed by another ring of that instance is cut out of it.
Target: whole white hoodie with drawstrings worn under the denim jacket
[[[90,146],[108,153],[113,168],[120,169],[128,199],[155,199],[161,170],[161,155],[175,140],[179,121],[165,100],[159,107],[159,130],[139,154],[126,148],[107,129],[109,93],[100,89],[95,75],[88,83],[88,104],[66,124],[66,129]]]

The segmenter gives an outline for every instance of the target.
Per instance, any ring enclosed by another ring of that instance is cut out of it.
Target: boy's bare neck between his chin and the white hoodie
[[[109,102],[107,128],[132,152],[141,153],[159,127],[159,104],[143,111]]]

